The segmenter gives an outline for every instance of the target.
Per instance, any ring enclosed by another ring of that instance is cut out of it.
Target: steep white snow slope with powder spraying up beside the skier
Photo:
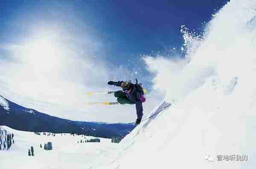
[[[256,1],[227,3],[201,37],[182,30],[185,59],[144,58],[172,106],[92,169],[256,168]],[[223,155],[247,161],[220,161]]]

